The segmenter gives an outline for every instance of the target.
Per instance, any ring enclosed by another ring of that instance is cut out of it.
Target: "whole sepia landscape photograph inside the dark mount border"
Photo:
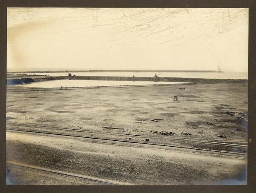
[[[246,185],[248,15],[8,7],[6,184]]]

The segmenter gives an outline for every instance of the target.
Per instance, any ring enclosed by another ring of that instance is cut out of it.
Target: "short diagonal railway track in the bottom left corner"
[[[89,180],[91,182],[99,182],[102,185],[131,185],[131,184],[125,184],[125,183],[121,183],[121,182],[110,182],[107,180],[98,179],[98,178],[94,178],[91,176],[84,176],[84,175],[79,175],[79,174],[74,174],[74,173],[69,173],[69,172],[64,172],[64,171],[51,170],[51,169],[47,169],[45,167],[25,165],[25,164],[16,163],[16,162],[15,163],[14,162],[6,162],[6,166],[22,167],[22,168],[26,168],[26,169],[44,171],[44,172],[48,172],[48,173],[55,173],[55,174],[59,174],[62,176],[71,176],[71,177],[75,177],[75,178],[79,178],[79,179]]]

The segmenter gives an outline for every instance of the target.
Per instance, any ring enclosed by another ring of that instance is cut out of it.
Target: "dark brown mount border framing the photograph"
[[[212,186],[52,186],[52,185],[6,185],[6,38],[7,7],[148,7],[148,8],[249,8],[248,42],[248,167],[247,185]],[[253,0],[5,0],[0,7],[0,192],[218,192],[251,193],[256,191],[256,1]],[[254,190],[254,191],[253,191]]]

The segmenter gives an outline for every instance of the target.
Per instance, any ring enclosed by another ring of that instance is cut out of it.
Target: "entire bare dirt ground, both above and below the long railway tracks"
[[[216,136],[219,134],[226,135],[227,140],[247,140],[247,84],[193,84],[186,85],[185,90],[179,90],[183,87],[180,85],[52,91],[7,86],[6,119],[7,123],[102,131],[101,134],[93,133],[93,136],[105,135],[111,139],[126,139],[127,136],[113,137],[108,132],[151,136],[150,142],[157,144],[179,143],[163,142],[161,137],[220,139]],[[177,101],[173,100],[174,96],[178,97]],[[154,122],[149,119],[163,120]],[[124,130],[105,129],[102,126]],[[171,131],[175,134],[162,136],[160,133],[153,134],[153,131]],[[132,138],[142,140],[136,136]],[[50,135],[13,131],[7,132],[6,145],[7,161],[10,163],[79,173],[121,184],[234,183],[232,180],[244,181],[241,175],[244,175],[247,166],[246,158],[234,159],[151,146],[126,147],[123,144],[92,142],[90,139],[52,138]],[[202,148],[192,143],[185,145]],[[21,168],[13,168],[8,166],[9,175],[18,184],[96,183],[81,182],[81,179],[74,177],[67,181],[52,180],[57,178],[54,176],[56,174],[50,175],[49,180],[43,181],[43,177],[38,177],[38,180],[31,182],[26,175],[33,176],[35,171],[27,170],[24,177]],[[42,172],[40,175],[49,176],[49,173]]]

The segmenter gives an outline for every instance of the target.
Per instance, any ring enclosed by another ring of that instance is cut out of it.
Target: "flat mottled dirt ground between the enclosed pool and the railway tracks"
[[[247,139],[247,82],[230,84],[7,90],[7,121],[95,129],[125,128],[131,133],[172,131],[196,137],[224,134]],[[8,89],[8,88],[7,88]],[[19,88],[17,88],[19,89]],[[178,100],[174,101],[173,97]],[[26,119],[25,119],[26,116]],[[149,119],[164,119],[158,122]],[[199,132],[203,129],[203,134]]]

